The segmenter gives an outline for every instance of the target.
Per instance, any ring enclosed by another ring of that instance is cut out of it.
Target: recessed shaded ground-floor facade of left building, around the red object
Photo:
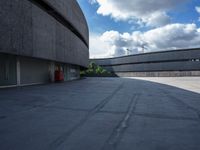
[[[64,81],[80,78],[80,66],[32,57],[0,54],[0,88],[54,82],[54,72],[61,67]]]

